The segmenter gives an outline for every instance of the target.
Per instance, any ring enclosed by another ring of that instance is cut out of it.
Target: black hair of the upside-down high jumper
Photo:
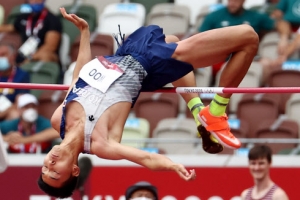
[[[76,188],[78,182],[77,176],[71,176],[60,188],[52,187],[45,183],[42,179],[42,174],[40,175],[37,183],[41,190],[43,190],[45,193],[47,193],[50,196],[56,197],[56,198],[67,198],[72,196],[73,191]]]

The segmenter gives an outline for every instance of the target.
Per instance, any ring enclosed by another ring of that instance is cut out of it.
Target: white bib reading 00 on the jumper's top
[[[80,70],[79,77],[92,87],[105,93],[109,86],[117,80],[124,71],[118,65],[99,56],[85,64]]]

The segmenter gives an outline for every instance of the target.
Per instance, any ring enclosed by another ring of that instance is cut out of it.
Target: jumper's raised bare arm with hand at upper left
[[[88,23],[75,14],[67,14],[64,8],[60,8],[61,14],[65,19],[72,22],[80,31],[80,45],[76,60],[76,66],[73,72],[73,81],[77,80],[80,69],[89,61],[91,61],[91,46],[90,46],[90,30]]]

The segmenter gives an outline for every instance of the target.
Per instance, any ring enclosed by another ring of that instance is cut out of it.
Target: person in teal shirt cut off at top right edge
[[[298,0],[280,0],[271,16],[276,20],[284,20],[287,26],[282,26],[278,53],[283,54],[288,45],[292,32],[300,26],[300,1]]]

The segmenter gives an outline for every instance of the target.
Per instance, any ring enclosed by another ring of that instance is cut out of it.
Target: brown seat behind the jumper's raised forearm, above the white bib
[[[71,47],[71,61],[74,62],[77,59],[79,52],[80,38],[72,44]],[[94,32],[90,38],[92,58],[96,56],[112,55],[114,53],[114,38],[108,34],[100,34]]]

